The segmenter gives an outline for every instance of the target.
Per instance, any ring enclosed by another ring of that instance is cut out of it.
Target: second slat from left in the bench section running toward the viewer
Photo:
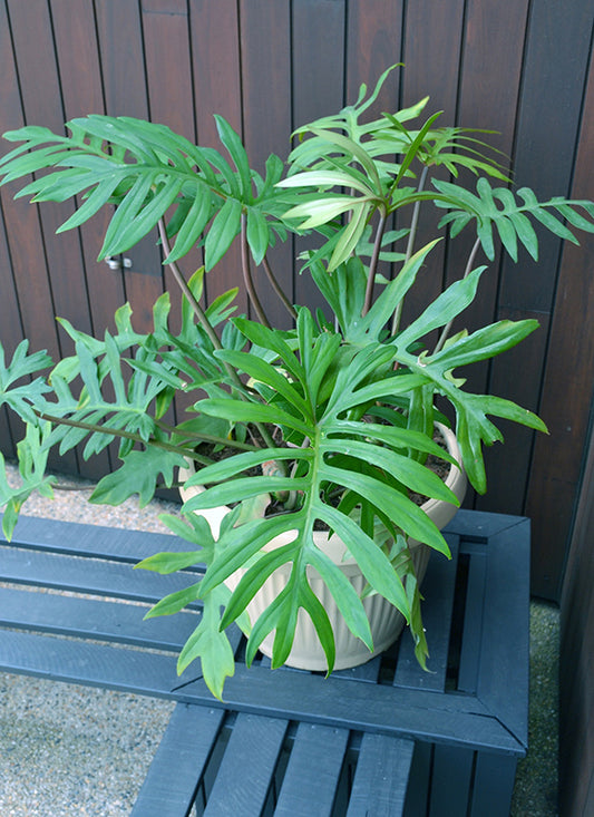
[[[262,813],[288,726],[282,718],[237,716],[204,817]]]

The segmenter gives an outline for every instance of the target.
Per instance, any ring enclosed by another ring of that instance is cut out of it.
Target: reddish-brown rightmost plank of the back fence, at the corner
[[[594,60],[590,66],[582,113],[580,148],[572,196],[592,197],[594,191]],[[534,589],[558,599],[574,504],[581,479],[594,382],[594,240],[582,246],[566,244],[559,271],[541,414],[551,437],[537,437],[528,485],[526,512],[533,518]]]

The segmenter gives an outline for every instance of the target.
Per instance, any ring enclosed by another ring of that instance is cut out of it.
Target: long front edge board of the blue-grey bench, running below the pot
[[[50,635],[6,632],[0,639],[0,669],[213,706],[204,681],[192,680],[198,670],[189,667],[178,678],[173,655],[87,642],[76,642],[74,651],[72,643]],[[305,673],[237,665],[225,684],[225,706],[288,720],[524,753],[524,747],[476,699],[450,700],[407,689],[398,690],[395,698],[395,690],[382,684],[366,684],[363,698],[351,682],[332,678],[323,684],[319,681]]]

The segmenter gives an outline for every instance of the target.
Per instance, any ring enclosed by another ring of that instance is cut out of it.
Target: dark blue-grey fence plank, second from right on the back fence
[[[571,186],[594,8],[590,0],[576,0],[572,12],[567,14],[558,4],[538,0],[532,3],[527,28],[514,173],[516,184],[534,187],[541,201],[567,195]],[[568,77],[573,78],[571,82]],[[547,168],[546,173],[543,167]],[[495,393],[504,393],[534,411],[538,410],[539,385],[546,366],[562,243],[551,233],[539,232],[538,262],[523,249],[517,264],[507,256],[504,259],[498,318],[536,318],[542,328],[527,343],[496,359],[490,379]],[[487,494],[476,507],[495,510],[497,503],[508,513],[523,514],[535,435],[512,424],[504,434],[506,445],[491,453],[488,469],[489,482],[500,489],[497,497]],[[546,514],[544,508],[543,513]],[[534,567],[533,582],[539,582],[542,563]]]

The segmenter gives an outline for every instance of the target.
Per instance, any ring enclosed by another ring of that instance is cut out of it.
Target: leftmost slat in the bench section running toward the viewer
[[[223,710],[176,706],[132,817],[186,817],[223,719]]]

